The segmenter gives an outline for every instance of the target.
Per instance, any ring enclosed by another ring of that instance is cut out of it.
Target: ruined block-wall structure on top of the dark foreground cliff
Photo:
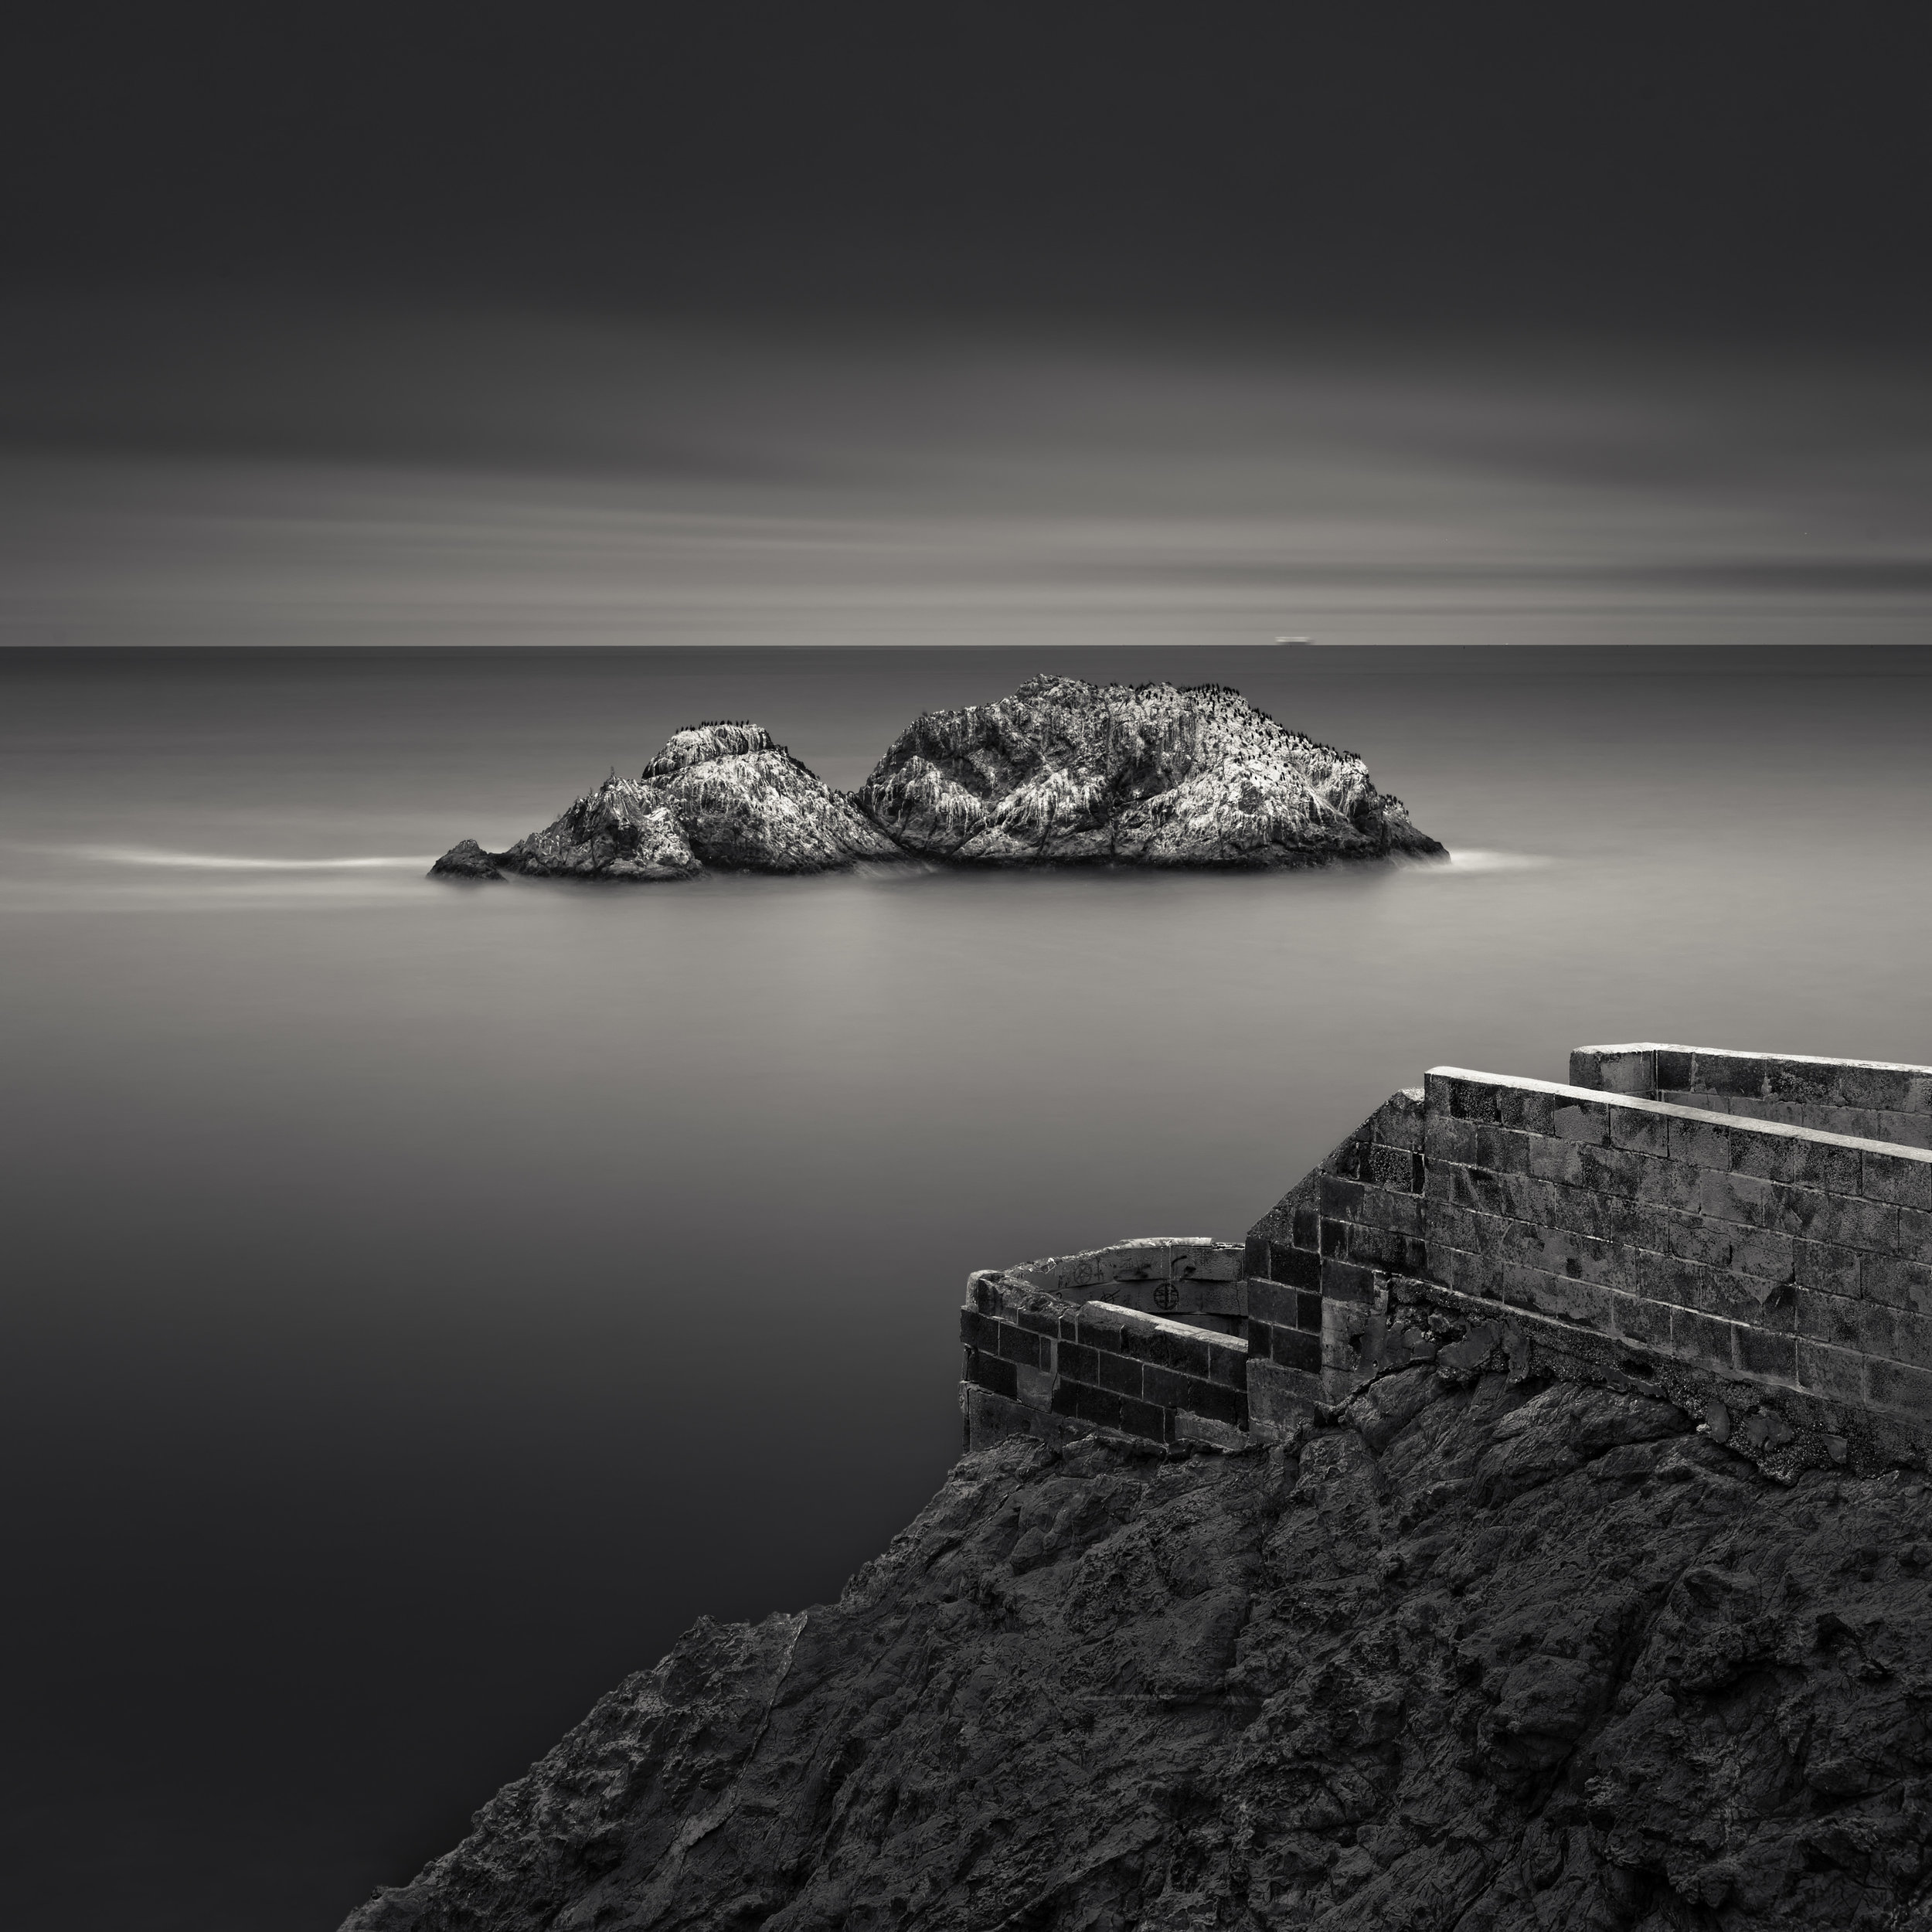
[[[968,1445],[1283,1441],[1391,1368],[1663,1395],[1774,1474],[1932,1445],[1932,1068],[1580,1047],[1434,1068],[1246,1244],[976,1273]]]

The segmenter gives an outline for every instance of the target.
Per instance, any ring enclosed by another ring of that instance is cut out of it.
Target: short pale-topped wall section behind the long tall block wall
[[[1571,1086],[1932,1148],[1932,1066],[1716,1047],[1578,1047]]]

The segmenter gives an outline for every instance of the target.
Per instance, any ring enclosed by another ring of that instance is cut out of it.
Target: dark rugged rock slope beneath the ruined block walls
[[[699,1623],[346,1932],[1924,1928],[1932,1501],[1586,1383],[1007,1441]]]

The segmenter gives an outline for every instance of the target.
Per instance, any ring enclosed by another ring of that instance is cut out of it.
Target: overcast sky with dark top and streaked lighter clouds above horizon
[[[1926,52],[29,4],[0,638],[1922,636]]]

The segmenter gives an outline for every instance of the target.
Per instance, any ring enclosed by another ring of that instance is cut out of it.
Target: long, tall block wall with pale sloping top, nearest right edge
[[[1428,1076],[1428,1275],[1627,1347],[1932,1422],[1932,1151],[1464,1068]]]

